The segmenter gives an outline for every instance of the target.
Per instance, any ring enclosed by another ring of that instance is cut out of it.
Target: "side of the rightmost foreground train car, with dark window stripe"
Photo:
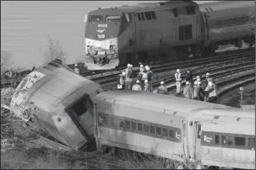
[[[202,164],[218,167],[254,168],[255,131],[254,125],[212,124],[202,126]],[[229,127],[226,131],[226,127]],[[236,129],[248,130],[245,134]],[[249,129],[248,129],[249,128]]]

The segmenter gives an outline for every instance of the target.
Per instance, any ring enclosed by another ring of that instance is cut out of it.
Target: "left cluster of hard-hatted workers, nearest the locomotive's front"
[[[150,66],[139,66],[139,74],[137,80],[133,84],[134,78],[133,65],[128,64],[128,67],[118,75],[117,88],[135,91],[153,92],[152,82],[154,79],[153,72],[150,71]]]

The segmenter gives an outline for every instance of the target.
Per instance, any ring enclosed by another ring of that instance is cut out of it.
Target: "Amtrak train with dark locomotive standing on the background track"
[[[98,8],[84,17],[89,69],[214,54],[220,45],[253,46],[255,3],[192,1]]]

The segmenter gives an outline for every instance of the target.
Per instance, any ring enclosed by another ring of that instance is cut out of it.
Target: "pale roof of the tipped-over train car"
[[[95,86],[95,84],[95,82],[69,72],[65,68],[57,68],[51,74],[47,74],[38,82],[35,82],[28,90],[28,96],[30,96],[30,101],[33,101],[36,107],[50,113],[57,104],[60,104],[64,98],[78,91],[79,88],[89,87],[89,85]],[[89,92],[90,87],[87,89]],[[87,93],[85,90],[83,92]]]

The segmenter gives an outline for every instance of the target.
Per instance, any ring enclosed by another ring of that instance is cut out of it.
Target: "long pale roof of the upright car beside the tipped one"
[[[128,103],[149,105],[155,108],[167,109],[167,110],[175,110],[178,114],[188,114],[194,113],[193,110],[201,110],[204,112],[204,109],[231,109],[236,110],[234,108],[224,106],[221,104],[210,104],[199,102],[196,100],[191,100],[187,98],[178,98],[171,95],[162,95],[155,93],[145,93],[138,91],[109,91],[100,93],[96,96],[96,98],[112,98],[114,100],[121,100]],[[240,109],[238,109],[240,110]],[[166,114],[173,114],[168,113]]]

